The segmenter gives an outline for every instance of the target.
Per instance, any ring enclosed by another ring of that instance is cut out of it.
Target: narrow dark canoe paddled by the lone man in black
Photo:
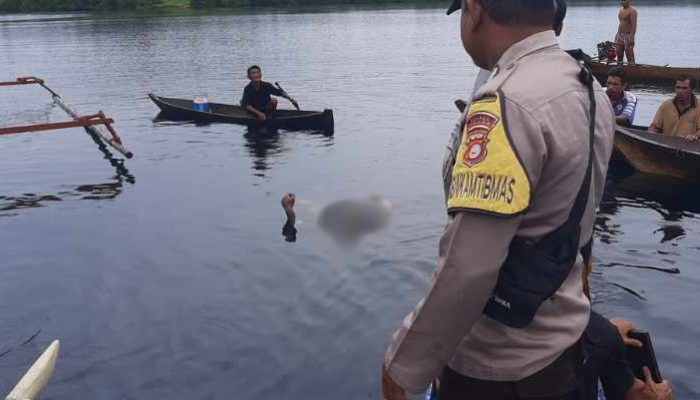
[[[249,127],[272,127],[286,130],[320,130],[326,135],[333,134],[333,110],[296,111],[277,110],[267,121],[260,121],[241,106],[210,103],[210,111],[194,109],[194,102],[187,99],[173,99],[156,96],[150,93],[148,97],[160,108],[159,117],[170,120],[196,122],[224,122],[247,125]]]

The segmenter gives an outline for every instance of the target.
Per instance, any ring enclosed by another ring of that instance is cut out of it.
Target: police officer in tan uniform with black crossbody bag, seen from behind
[[[552,31],[553,0],[460,0],[462,43],[493,71],[445,168],[449,224],[426,297],[394,334],[384,399],[440,376],[440,400],[567,399],[590,303],[614,116]]]

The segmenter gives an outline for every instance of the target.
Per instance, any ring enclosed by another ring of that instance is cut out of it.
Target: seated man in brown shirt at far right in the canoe
[[[695,80],[681,76],[676,80],[676,96],[661,103],[649,132],[680,136],[687,140],[700,138],[700,105],[693,94]]]

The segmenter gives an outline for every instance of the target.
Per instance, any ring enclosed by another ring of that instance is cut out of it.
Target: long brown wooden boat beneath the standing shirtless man
[[[591,62],[591,72],[601,83],[608,79],[608,72],[618,64],[605,63],[599,61]],[[627,75],[627,80],[632,83],[651,83],[657,85],[668,85],[669,88],[675,84],[676,79],[681,75],[688,75],[700,81],[700,68],[679,68],[665,67],[660,65],[646,64],[623,64],[620,65]]]

